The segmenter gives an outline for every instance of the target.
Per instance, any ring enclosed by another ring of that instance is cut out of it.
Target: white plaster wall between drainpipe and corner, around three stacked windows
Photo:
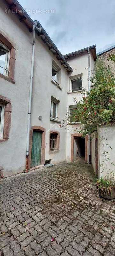
[[[61,68],[62,90],[51,82],[52,60]],[[58,163],[66,160],[66,130],[60,128],[60,123],[50,121],[51,96],[59,100],[58,117],[63,121],[67,112],[67,83],[68,74],[60,62],[54,57],[48,47],[43,44],[41,38],[36,35],[34,79],[32,94],[32,116],[31,126],[42,126],[46,129],[46,151],[45,160],[52,159],[51,163]],[[42,119],[39,120],[38,116]],[[59,152],[49,154],[49,131],[57,130],[60,132]]]

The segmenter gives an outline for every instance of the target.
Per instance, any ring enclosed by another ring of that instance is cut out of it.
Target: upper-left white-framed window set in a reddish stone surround
[[[4,76],[9,74],[10,49],[0,42],[0,73]]]

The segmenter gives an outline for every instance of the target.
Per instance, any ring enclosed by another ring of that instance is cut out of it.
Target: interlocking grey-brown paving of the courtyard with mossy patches
[[[115,203],[93,178],[79,161],[1,180],[0,255],[115,255]]]

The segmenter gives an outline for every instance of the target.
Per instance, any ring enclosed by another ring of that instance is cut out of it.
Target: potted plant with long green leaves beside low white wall
[[[115,173],[110,172],[105,178],[96,180],[96,188],[99,196],[105,199],[115,198]]]

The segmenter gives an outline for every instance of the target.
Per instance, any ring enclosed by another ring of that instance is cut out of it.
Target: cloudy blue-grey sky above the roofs
[[[64,55],[96,44],[96,52],[115,45],[115,0],[19,0],[39,20]]]

